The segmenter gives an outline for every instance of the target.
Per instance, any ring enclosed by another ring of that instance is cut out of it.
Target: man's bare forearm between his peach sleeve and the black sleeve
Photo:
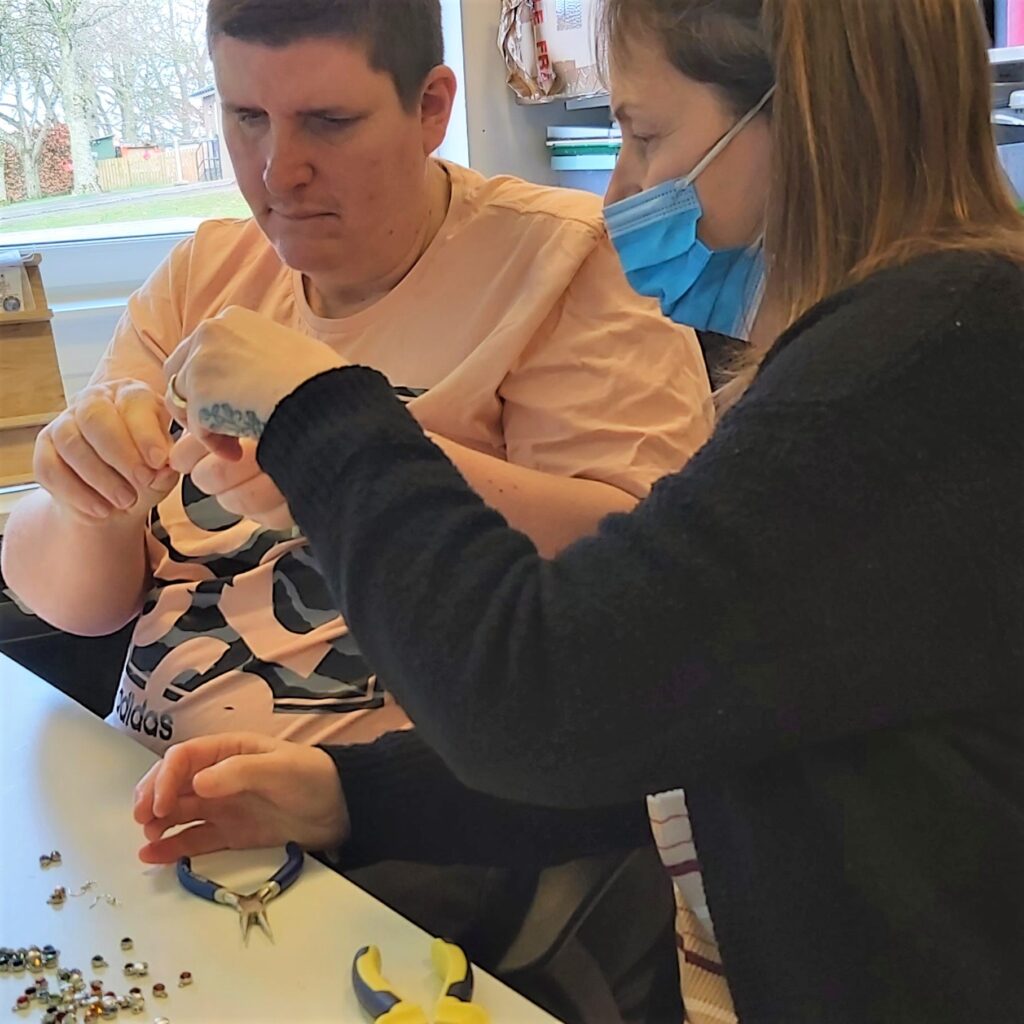
[[[445,437],[428,436],[469,485],[546,557],[593,534],[606,515],[629,512],[637,503],[632,495],[598,480],[542,473]]]

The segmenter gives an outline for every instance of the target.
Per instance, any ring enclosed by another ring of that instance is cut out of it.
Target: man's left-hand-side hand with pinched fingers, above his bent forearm
[[[85,388],[36,440],[36,480],[76,518],[144,518],[178,475],[168,466],[170,418],[141,381]]]

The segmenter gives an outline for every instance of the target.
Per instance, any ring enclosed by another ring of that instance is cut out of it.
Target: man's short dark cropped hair
[[[444,62],[440,0],[210,0],[207,39],[230,36],[263,46],[335,37],[366,46],[412,109],[427,75]]]

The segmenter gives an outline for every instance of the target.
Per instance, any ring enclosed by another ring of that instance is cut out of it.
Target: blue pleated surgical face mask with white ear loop
[[[749,338],[764,294],[761,242],[745,249],[715,250],[697,238],[703,208],[694,182],[757,117],[775,91],[718,141],[685,177],[666,181],[605,208],[608,234],[630,284],[657,299],[677,324]]]

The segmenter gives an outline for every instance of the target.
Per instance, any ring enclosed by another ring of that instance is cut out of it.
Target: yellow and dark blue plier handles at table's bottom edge
[[[473,968],[466,954],[452,942],[434,939],[430,958],[444,982],[433,1024],[489,1024],[487,1012],[473,1002]],[[364,946],[355,954],[352,987],[374,1024],[431,1024],[419,1004],[403,999],[385,980],[377,946]]]

